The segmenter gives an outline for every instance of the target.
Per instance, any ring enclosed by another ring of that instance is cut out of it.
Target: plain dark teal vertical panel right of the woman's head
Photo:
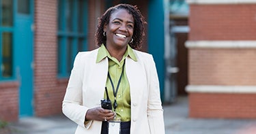
[[[154,56],[158,78],[160,82],[161,99],[164,100],[165,84],[165,36],[164,36],[164,9],[162,0],[150,0],[148,11],[148,50]]]

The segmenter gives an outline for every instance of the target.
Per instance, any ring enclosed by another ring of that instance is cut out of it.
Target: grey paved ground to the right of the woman
[[[165,129],[169,134],[256,134],[256,120],[188,118],[188,99],[164,105]]]

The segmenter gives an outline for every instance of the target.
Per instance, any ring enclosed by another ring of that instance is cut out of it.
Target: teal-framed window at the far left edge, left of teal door
[[[13,1],[0,1],[0,80],[8,80],[13,76]]]

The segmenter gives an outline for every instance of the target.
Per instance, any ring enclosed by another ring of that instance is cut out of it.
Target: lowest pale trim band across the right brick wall
[[[188,85],[188,93],[256,93],[256,86]]]

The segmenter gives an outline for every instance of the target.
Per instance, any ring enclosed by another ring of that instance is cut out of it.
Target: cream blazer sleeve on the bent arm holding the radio
[[[62,112],[70,120],[76,122],[81,127],[88,129],[91,121],[85,122],[85,114],[88,107],[83,105],[83,69],[84,62],[82,61],[81,52],[76,55],[74,67],[70,74],[66,94],[62,102]]]

